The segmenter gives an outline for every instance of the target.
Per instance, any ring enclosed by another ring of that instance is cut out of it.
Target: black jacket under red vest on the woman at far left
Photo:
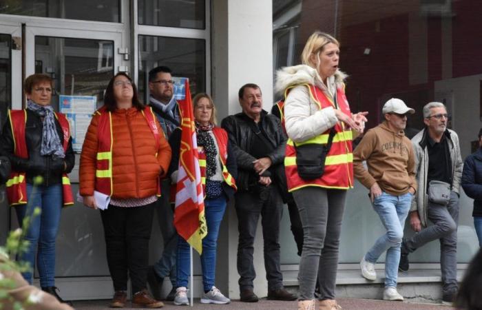
[[[63,143],[63,132],[59,121],[55,120],[57,134]],[[27,110],[27,123],[25,124],[25,143],[27,144],[28,158],[20,158],[14,155],[14,141],[10,119],[3,127],[1,143],[3,152],[12,163],[12,171],[26,172],[27,183],[33,184],[35,176],[43,177],[43,186],[50,186],[62,183],[62,174],[70,173],[74,168],[74,151],[72,150],[72,137],[69,138],[69,145],[65,158],[57,158],[52,155],[42,156],[40,148],[42,144],[42,119],[34,112]],[[64,165],[65,163],[65,165]],[[65,169],[64,169],[65,168]]]

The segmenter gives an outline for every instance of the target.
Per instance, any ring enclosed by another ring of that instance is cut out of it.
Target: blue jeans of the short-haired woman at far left
[[[62,185],[55,184],[49,187],[35,186],[27,183],[27,205],[17,205],[17,218],[22,225],[25,216],[32,216],[35,207],[41,209],[41,214],[35,216],[30,223],[25,240],[30,245],[19,260],[30,263],[34,267],[35,250],[38,245],[36,265],[39,269],[40,286],[53,287],[55,285],[55,238],[59,230],[62,209]],[[22,274],[23,278],[32,284],[32,271]]]

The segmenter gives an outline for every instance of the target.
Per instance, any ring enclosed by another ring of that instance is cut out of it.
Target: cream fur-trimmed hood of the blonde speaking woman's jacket
[[[340,87],[347,76],[344,72],[337,70],[333,76],[328,77],[327,82],[335,87]],[[293,65],[277,70],[275,92],[283,94],[287,87],[304,83],[318,86],[322,90],[326,89],[326,85],[322,83],[315,68],[311,68],[309,65]]]

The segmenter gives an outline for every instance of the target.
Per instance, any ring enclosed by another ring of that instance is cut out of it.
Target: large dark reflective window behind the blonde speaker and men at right
[[[314,30],[333,34],[341,43],[340,68],[349,74],[346,96],[351,110],[370,113],[367,129],[383,120],[382,105],[396,97],[416,110],[408,118],[406,134],[411,137],[424,126],[423,105],[440,101],[452,115],[449,127],[459,135],[465,158],[482,119],[482,44],[474,40],[482,28],[481,9],[476,0],[273,0],[274,69],[289,63],[284,55],[290,50],[293,64],[299,64]],[[297,34],[284,45],[292,27]],[[361,185],[348,192],[340,262],[358,262],[383,231],[367,192]],[[459,262],[468,262],[478,248],[471,212],[472,200],[462,193]],[[412,234],[408,225],[406,234]],[[438,248],[439,242],[431,242],[410,254],[410,261],[439,262]],[[297,260],[295,248],[284,253],[285,258]]]

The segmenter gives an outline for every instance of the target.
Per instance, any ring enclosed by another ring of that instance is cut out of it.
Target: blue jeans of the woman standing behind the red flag
[[[202,286],[210,291],[216,278],[216,246],[218,245],[219,227],[226,210],[226,196],[205,200],[205,216],[207,236],[202,239]],[[178,238],[178,267],[177,287],[187,287],[190,276],[191,259],[189,258],[189,244]]]

